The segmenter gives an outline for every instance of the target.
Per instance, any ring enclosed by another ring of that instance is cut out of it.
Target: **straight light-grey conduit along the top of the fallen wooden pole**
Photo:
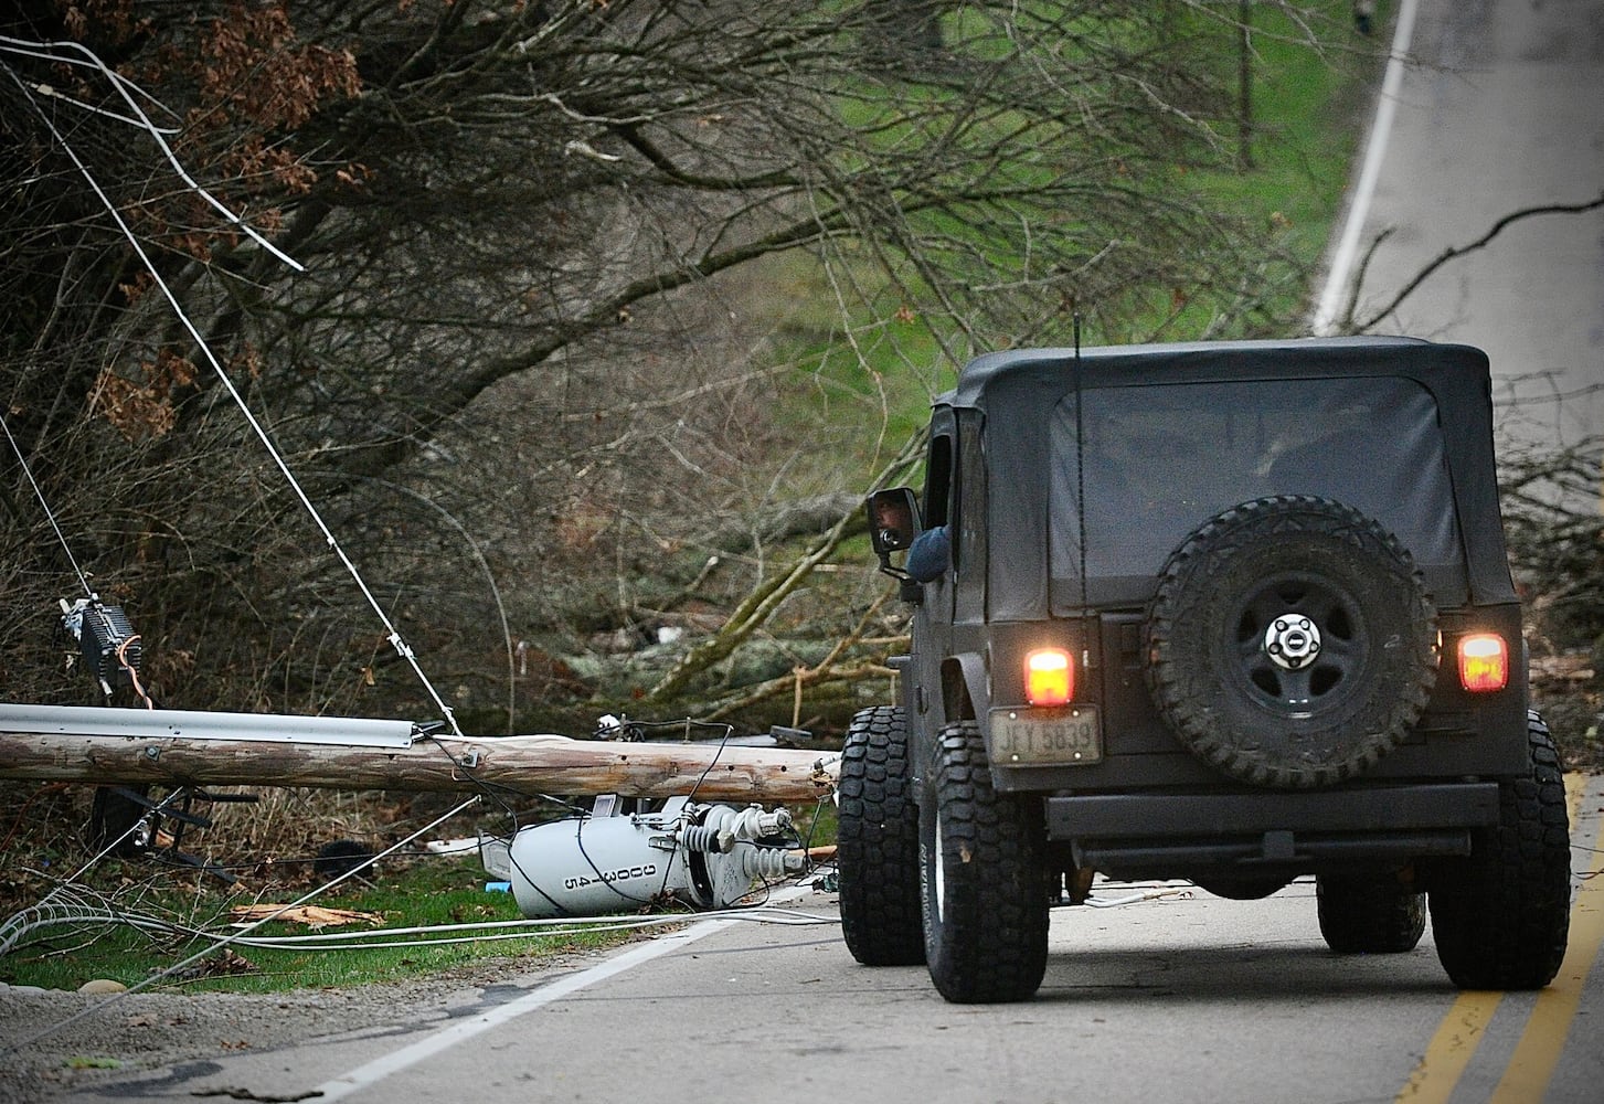
[[[115,709],[0,703],[0,732],[133,740],[263,740],[351,748],[411,748],[411,720],[374,717],[297,717],[271,712],[199,709]]]

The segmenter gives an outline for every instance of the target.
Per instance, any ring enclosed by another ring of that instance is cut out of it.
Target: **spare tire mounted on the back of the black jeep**
[[[1391,751],[1437,679],[1437,613],[1395,536],[1312,496],[1235,505],[1181,542],[1147,613],[1147,680],[1240,781],[1330,786]]]

